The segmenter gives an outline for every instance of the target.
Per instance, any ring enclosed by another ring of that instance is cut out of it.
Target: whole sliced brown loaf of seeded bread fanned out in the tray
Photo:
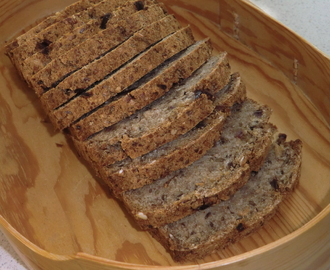
[[[80,0],[6,49],[54,127],[177,261],[254,232],[297,185],[302,143],[275,135],[227,53],[156,0]]]

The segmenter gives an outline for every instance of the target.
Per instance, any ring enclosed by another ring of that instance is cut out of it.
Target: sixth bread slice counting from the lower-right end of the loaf
[[[156,35],[156,32],[152,31],[152,33]],[[110,74],[99,84],[52,111],[49,119],[57,129],[68,127],[194,42],[189,26],[173,33]]]

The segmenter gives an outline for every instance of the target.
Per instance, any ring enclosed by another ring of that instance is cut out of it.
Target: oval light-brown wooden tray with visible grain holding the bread
[[[6,40],[72,1],[0,0],[0,228],[31,269],[328,269],[330,60],[243,0],[166,0],[226,50],[248,96],[304,143],[301,182],[258,233],[185,265],[134,225],[53,130],[3,54]]]

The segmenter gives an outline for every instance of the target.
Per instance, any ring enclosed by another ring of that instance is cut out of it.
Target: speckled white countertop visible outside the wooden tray
[[[330,16],[328,16],[330,0],[251,0],[251,2],[319,50],[330,55]],[[0,231],[0,270],[26,269]]]

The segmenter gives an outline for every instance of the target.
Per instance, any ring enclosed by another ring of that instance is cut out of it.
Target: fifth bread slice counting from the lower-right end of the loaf
[[[132,115],[163,96],[174,84],[188,78],[210,58],[211,53],[209,40],[195,43],[124,90],[122,95],[108,100],[100,108],[72,124],[70,133],[83,140]]]

